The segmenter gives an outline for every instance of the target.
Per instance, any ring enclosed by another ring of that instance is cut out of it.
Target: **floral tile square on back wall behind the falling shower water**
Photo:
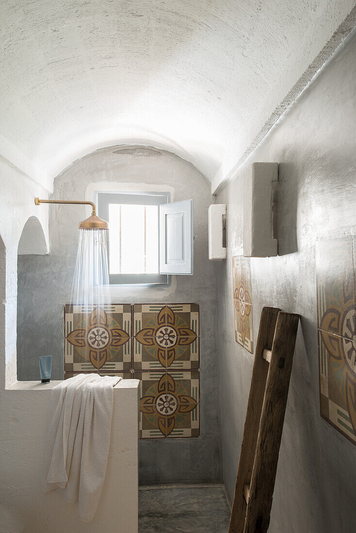
[[[131,368],[131,306],[65,306],[65,372]]]

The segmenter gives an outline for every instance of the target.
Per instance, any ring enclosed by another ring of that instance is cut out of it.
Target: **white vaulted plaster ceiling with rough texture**
[[[44,183],[133,142],[223,179],[353,6],[2,0],[0,151]]]

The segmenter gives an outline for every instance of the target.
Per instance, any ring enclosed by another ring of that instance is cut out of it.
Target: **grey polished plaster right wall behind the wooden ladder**
[[[282,117],[217,197],[227,204],[218,266],[220,439],[230,498],[253,356],[234,340],[232,256],[242,254],[243,174],[279,162],[279,256],[251,259],[254,337],[264,305],[300,313],[276,476],[271,533],[349,533],[356,523],[356,447],[319,414],[315,241],[356,231],[356,39]]]

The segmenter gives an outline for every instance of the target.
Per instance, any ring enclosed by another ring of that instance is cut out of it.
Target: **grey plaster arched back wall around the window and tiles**
[[[62,172],[54,181],[53,198],[89,199],[93,189],[114,187],[159,187],[171,192],[172,201],[194,200],[194,275],[173,276],[166,288],[112,289],[115,303],[200,304],[201,437],[141,441],[140,479],[218,480],[217,293],[216,263],[208,260],[210,184],[190,163],[169,152],[113,147],[94,152]],[[63,305],[70,300],[78,222],[88,215],[83,206],[51,206],[49,216],[50,255],[19,256],[18,262],[18,378],[25,380],[37,378],[42,353],[53,355],[53,378],[63,376]]]

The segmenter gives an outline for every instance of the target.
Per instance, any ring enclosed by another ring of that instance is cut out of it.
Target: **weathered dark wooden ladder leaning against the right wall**
[[[229,533],[265,533],[270,524],[299,314],[264,307]]]

